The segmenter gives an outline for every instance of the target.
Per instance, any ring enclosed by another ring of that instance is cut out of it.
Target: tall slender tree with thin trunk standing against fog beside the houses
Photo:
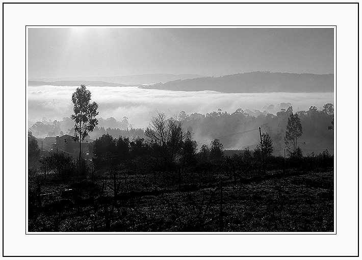
[[[90,103],[91,92],[86,89],[85,85],[81,85],[72,94],[72,102],[74,104],[74,114],[70,116],[74,120],[74,138],[79,140],[79,160],[81,160],[81,142],[86,138],[88,132],[93,131],[94,126],[98,124],[98,104]]]

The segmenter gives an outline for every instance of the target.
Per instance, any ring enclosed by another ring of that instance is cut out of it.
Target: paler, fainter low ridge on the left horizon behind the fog
[[[111,82],[124,85],[142,85],[153,83],[166,83],[175,80],[195,79],[196,77],[203,77],[198,74],[139,74],[139,75],[126,75],[126,76],[91,76],[91,77],[62,77],[62,78],[49,78],[49,79],[30,79],[31,81],[39,82],[56,82],[56,81],[97,81],[97,82]]]

